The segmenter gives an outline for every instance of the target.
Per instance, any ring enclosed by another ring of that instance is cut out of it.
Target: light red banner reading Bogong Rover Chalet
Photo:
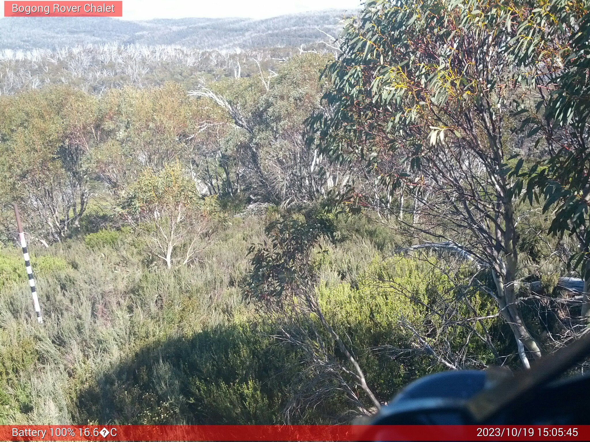
[[[123,2],[5,1],[4,17],[123,17]]]

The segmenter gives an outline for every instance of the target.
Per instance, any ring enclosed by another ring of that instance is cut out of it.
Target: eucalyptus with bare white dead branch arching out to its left
[[[240,169],[234,183],[239,180],[239,190],[254,200],[288,205],[311,202],[325,192],[326,176],[316,151],[306,146],[304,121],[320,105],[326,82],[318,81],[318,72],[326,60],[325,55],[304,54],[275,75],[260,70],[260,75],[189,92],[201,103],[206,98],[224,109],[227,125],[233,126],[219,143],[225,149],[215,164],[223,169],[225,182],[230,182],[227,164],[233,163]]]

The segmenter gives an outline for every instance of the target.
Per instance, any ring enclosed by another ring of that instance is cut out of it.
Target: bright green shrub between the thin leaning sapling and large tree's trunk
[[[341,337],[346,337],[365,370],[368,384],[381,400],[390,400],[408,382],[430,371],[447,370],[436,358],[416,351],[421,346],[419,342],[412,344],[416,339],[414,332],[403,325],[404,321],[411,322],[434,348],[440,338],[433,330],[444,330],[444,345],[455,352],[467,349],[476,359],[494,361],[483,342],[470,339],[466,327],[442,327],[442,318],[435,312],[444,311],[444,305],[453,305],[451,310],[463,318],[473,317],[474,313],[461,299],[457,285],[463,282],[461,275],[455,275],[457,281],[451,281],[438,269],[433,258],[430,261],[404,256],[385,260],[376,257],[358,275],[358,288],[346,282],[319,287],[324,316]],[[494,302],[480,293],[471,293],[469,301],[477,315],[493,315],[497,311]],[[458,319],[458,316],[448,319]],[[492,328],[497,319],[482,322]],[[481,326],[475,325],[480,333]],[[470,344],[466,346],[466,342]],[[398,358],[396,352],[406,356]]]

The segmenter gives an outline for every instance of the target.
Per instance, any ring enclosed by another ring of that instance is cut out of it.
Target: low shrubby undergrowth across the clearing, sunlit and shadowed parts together
[[[387,401],[444,368],[401,326],[411,318],[427,332],[434,315],[397,288],[435,304],[453,284],[419,260],[385,258],[380,250],[391,239],[381,230],[343,223],[339,242],[324,244],[314,262],[319,299]],[[284,423],[286,405],[312,374],[301,349],[277,341],[280,318],[242,299],[247,249],[263,239],[263,224],[232,219],[199,262],[172,271],[146,262],[126,229],[34,246],[42,325],[19,250],[2,249],[0,424]],[[466,342],[462,328],[450,334],[451,345]],[[490,359],[486,348],[471,352]],[[329,423],[347,411],[336,394],[291,419]]]

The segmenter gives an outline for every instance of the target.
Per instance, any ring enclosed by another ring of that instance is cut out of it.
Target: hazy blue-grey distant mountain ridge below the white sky
[[[106,17],[0,19],[0,49],[55,49],[80,44],[181,45],[198,49],[295,46],[336,35],[355,10],[328,9],[267,19],[182,18],[124,21]]]

